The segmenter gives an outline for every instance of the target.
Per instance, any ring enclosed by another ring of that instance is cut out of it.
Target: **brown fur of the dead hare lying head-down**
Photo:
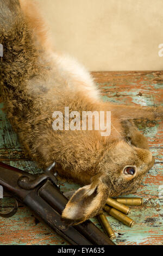
[[[62,213],[64,220],[76,224],[101,211],[108,196],[137,190],[154,158],[147,139],[128,120],[162,118],[162,107],[104,103],[91,97],[86,91],[89,87],[80,78],[73,80],[76,90],[70,89],[51,59],[36,5],[20,2],[22,9],[17,0],[0,3],[0,43],[4,46],[1,93],[5,109],[31,159],[42,168],[55,161],[61,178],[86,185],[72,196]],[[53,70],[57,82],[51,86]],[[70,112],[111,111],[111,135],[54,131],[52,114],[55,110],[64,112],[65,106],[70,107]],[[136,166],[136,174],[124,174],[126,166]]]

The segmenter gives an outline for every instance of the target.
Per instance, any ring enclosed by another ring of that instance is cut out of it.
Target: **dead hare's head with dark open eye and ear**
[[[97,215],[108,196],[136,192],[143,175],[153,166],[154,157],[147,149],[133,147],[125,141],[111,145],[98,164],[99,172],[91,184],[79,188],[62,212],[67,224],[79,224]]]

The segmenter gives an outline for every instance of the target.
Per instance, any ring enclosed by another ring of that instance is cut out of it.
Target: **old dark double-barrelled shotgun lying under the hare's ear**
[[[17,200],[32,210],[34,216],[71,245],[115,245],[95,224],[87,220],[67,227],[61,213],[68,199],[59,189],[55,162],[40,175],[34,175],[0,162],[0,185],[4,196],[15,198],[14,209],[1,217],[11,217],[18,209]]]

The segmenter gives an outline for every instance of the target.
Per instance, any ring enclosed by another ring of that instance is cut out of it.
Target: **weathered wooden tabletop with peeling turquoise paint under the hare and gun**
[[[105,101],[143,106],[161,105],[163,99],[163,72],[92,72],[97,86],[101,89]],[[16,134],[9,121],[0,111],[0,161],[32,173],[41,172],[36,164],[24,157]],[[143,206],[134,206],[129,217],[136,221],[129,228],[108,216],[115,230],[117,245],[161,245],[163,241],[162,204],[163,197],[163,126],[156,121],[137,121],[141,131],[148,137],[153,155],[156,157],[154,167],[143,179],[139,191],[134,196],[143,197]],[[78,188],[77,184],[60,182],[61,190]],[[161,187],[162,186],[162,187]],[[133,195],[131,195],[133,196]],[[9,206],[7,206],[9,207]],[[0,208],[2,210],[2,206]],[[92,221],[101,228],[96,218]],[[35,219],[25,206],[20,205],[14,217],[0,217],[0,245],[67,245],[58,235],[54,235]]]

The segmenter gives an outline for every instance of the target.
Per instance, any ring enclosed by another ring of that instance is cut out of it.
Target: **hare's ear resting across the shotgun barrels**
[[[108,194],[109,188],[101,179],[79,188],[66,204],[62,212],[62,220],[68,225],[73,225],[97,215],[102,210]]]

